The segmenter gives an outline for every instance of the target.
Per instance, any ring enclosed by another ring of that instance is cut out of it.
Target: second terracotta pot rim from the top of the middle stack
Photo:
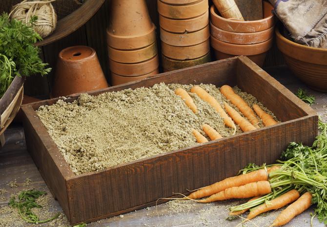
[[[173,20],[159,15],[160,27],[163,30],[173,33],[195,32],[203,29],[209,24],[209,11],[207,10],[203,15],[185,19]]]

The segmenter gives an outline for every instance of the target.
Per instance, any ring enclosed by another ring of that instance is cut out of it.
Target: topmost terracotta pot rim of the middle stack
[[[199,0],[184,5],[171,5],[158,0],[158,12],[171,19],[189,19],[199,17],[208,10],[208,0]]]

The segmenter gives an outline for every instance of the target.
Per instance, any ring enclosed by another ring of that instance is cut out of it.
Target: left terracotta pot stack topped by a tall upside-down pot
[[[145,0],[111,2],[107,46],[112,85],[158,74],[156,27]]]

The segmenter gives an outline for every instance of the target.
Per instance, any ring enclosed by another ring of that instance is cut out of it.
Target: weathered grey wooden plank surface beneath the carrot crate
[[[310,94],[315,95],[316,103],[312,105],[312,108],[327,121],[327,93],[324,94],[307,88],[306,85],[292,76],[286,67],[275,67],[266,69],[266,71],[292,92],[296,92],[299,87],[302,87],[307,89]],[[1,195],[3,198],[0,199],[0,207],[7,206],[11,194],[24,189],[23,185],[26,178],[32,180],[29,187],[32,186],[39,190],[48,191],[37,167],[26,150],[21,125],[10,126],[5,133],[5,137],[6,145],[0,149],[0,188],[5,188],[8,192]],[[17,188],[8,187],[7,184],[14,180],[17,181],[19,186]],[[51,206],[61,209],[58,202],[54,199],[50,203]],[[170,203],[157,207],[148,207],[147,209],[125,214],[123,217],[114,217],[91,223],[88,227],[234,227],[241,222],[240,219],[234,221],[225,220],[230,202],[195,204],[189,201],[186,203],[187,206],[185,206],[185,203]],[[173,206],[175,207],[174,209],[172,208]],[[313,209],[307,210],[292,220],[286,227],[309,227],[309,213],[312,211]],[[269,223],[271,223],[278,212],[276,211],[266,217],[254,219],[253,223],[249,222],[245,226],[269,226]],[[14,227],[28,226],[30,225],[15,225]],[[47,227],[48,224],[38,226]],[[324,225],[320,224],[317,219],[314,219],[313,226],[323,227]],[[2,227],[1,223],[0,227]]]

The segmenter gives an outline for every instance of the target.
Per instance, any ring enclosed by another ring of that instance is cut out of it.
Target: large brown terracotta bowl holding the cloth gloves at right
[[[278,49],[292,72],[314,90],[327,92],[327,49],[314,48],[287,40],[276,27]]]

